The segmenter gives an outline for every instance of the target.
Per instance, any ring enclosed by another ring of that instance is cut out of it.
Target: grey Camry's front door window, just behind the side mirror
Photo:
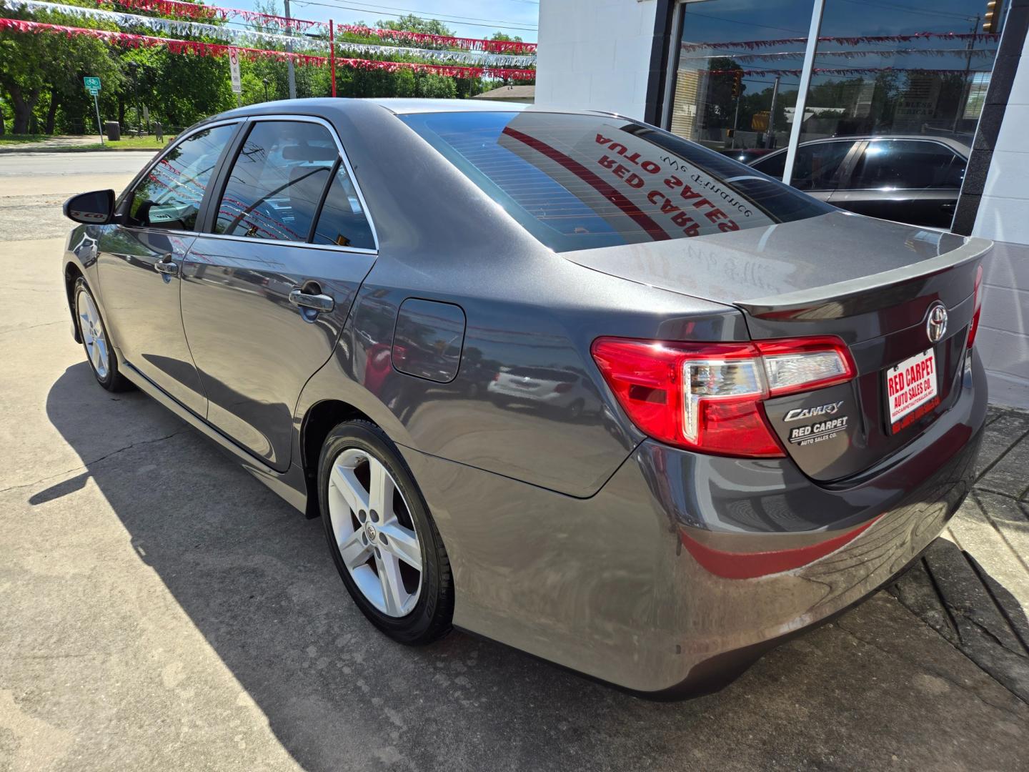
[[[204,189],[235,125],[198,132],[168,152],[133,191],[129,223],[137,227],[192,231]]]

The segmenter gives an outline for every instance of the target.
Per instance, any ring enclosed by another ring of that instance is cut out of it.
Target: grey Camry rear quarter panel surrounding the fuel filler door
[[[398,444],[584,497],[642,440],[593,362],[597,337],[746,337],[735,309],[607,276],[546,249],[383,108],[357,105],[336,126],[380,254],[333,357],[304,391],[298,423],[318,401],[342,399]],[[412,297],[464,312],[461,362],[449,383],[393,366],[397,311]],[[486,383],[516,366],[567,372],[581,386],[581,415],[491,400]]]

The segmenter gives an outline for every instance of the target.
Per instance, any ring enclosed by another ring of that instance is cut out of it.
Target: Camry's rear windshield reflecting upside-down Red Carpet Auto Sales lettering
[[[625,118],[535,111],[400,117],[558,252],[832,211],[750,167]]]

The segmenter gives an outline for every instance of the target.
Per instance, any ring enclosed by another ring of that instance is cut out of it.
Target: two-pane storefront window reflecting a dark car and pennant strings
[[[832,203],[862,198],[847,190],[954,188],[937,196],[945,214],[934,209],[926,222],[946,218],[1006,3],[990,5],[1000,15],[984,30],[985,0],[825,0],[799,115],[818,5],[684,0],[666,126],[779,177],[794,138],[791,182]]]

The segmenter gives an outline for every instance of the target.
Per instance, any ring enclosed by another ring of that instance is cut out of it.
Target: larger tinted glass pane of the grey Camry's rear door
[[[215,233],[307,241],[340,151],[318,124],[254,124],[218,204]]]

